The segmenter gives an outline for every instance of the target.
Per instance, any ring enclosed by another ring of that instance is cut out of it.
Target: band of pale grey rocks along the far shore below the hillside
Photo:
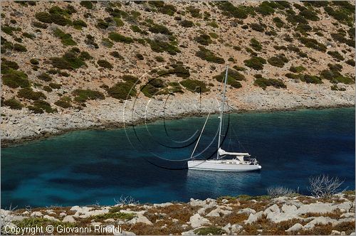
[[[269,93],[273,93],[270,91]],[[241,104],[232,100],[230,112],[275,112],[295,109],[323,109],[335,107],[353,107],[354,95],[347,94],[340,100],[329,99],[303,100],[302,102],[283,102],[283,96],[265,102],[253,101]],[[155,100],[139,98],[125,103],[115,99],[91,101],[81,110],[59,111],[52,114],[33,114],[26,109],[13,110],[1,107],[4,114],[1,120],[1,145],[9,146],[49,136],[83,129],[112,129],[125,125],[144,124],[158,119],[180,119],[183,117],[219,112],[219,102],[215,98],[177,97],[172,101],[165,97]],[[251,100],[251,97],[245,98]],[[226,110],[227,111],[227,110]]]

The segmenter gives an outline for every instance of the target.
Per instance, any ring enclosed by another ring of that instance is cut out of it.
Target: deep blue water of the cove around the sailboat
[[[190,157],[205,117],[167,121],[165,129],[159,121],[147,129],[135,127],[135,132],[132,128],[70,132],[1,149],[1,208],[109,205],[121,195],[140,203],[263,195],[269,186],[299,187],[300,193],[308,193],[308,177],[321,173],[339,176],[345,179],[342,188],[355,189],[354,108],[225,118],[230,126],[223,149],[248,151],[260,161],[261,171],[184,169],[185,161],[177,160]],[[196,154],[214,141],[217,125],[217,116],[211,116]],[[209,158],[214,151],[216,141],[199,157]]]

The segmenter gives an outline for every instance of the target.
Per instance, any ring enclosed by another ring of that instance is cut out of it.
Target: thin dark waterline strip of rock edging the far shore
[[[273,109],[234,109],[230,110],[231,113],[270,113],[270,112],[290,112],[290,111],[298,111],[301,109],[339,109],[339,108],[348,108],[348,107],[355,107],[354,104],[345,104],[345,105],[330,105],[330,106],[316,106],[316,107],[307,107],[307,106],[298,106],[298,107],[291,107],[291,108],[273,108]],[[167,117],[155,117],[149,119],[137,119],[130,124],[142,125],[142,124],[150,124],[152,122],[157,122],[159,120],[176,120],[176,119],[184,119],[189,117],[199,117],[201,115],[208,114],[208,112],[189,112],[189,113],[181,113],[176,115],[169,115]],[[217,112],[211,112],[211,114],[217,114]],[[129,122],[127,122],[129,124]],[[77,132],[77,131],[85,131],[85,130],[111,130],[111,129],[120,129],[124,128],[124,122],[108,122],[103,124],[97,124],[90,127],[76,127],[76,128],[68,128],[68,129],[61,129],[59,132],[56,133],[44,133],[44,134],[36,134],[32,136],[28,136],[26,138],[20,139],[1,139],[1,148],[11,147],[11,146],[18,146],[21,144],[26,144],[34,141],[41,141],[44,139],[50,139],[54,136],[60,136],[63,134],[68,134],[70,132]]]

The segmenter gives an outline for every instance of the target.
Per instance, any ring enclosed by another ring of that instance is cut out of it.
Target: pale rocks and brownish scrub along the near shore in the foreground
[[[8,230],[16,226],[101,227],[111,235],[118,225],[122,232],[114,235],[355,235],[355,191],[323,199],[240,195],[189,203],[1,210],[1,223],[9,225]],[[53,234],[60,233],[54,230]]]

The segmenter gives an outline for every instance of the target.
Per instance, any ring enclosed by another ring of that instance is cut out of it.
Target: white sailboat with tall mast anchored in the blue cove
[[[224,91],[221,95],[221,107],[220,107],[220,123],[219,123],[219,139],[218,139],[218,148],[216,152],[215,159],[209,160],[199,160],[194,159],[194,151],[197,149],[199,144],[199,140],[201,135],[204,132],[205,125],[207,120],[209,119],[209,115],[206,117],[204,127],[201,129],[201,133],[197,140],[197,144],[194,147],[192,152],[192,156],[188,161],[188,169],[189,170],[202,170],[202,171],[258,171],[262,167],[259,165],[256,159],[251,158],[251,155],[244,152],[234,152],[234,151],[224,151],[221,149],[221,129],[223,122],[223,114],[224,114],[224,103],[225,103],[225,94],[226,94],[226,83],[229,73],[229,65],[226,66],[226,73],[224,77]]]

